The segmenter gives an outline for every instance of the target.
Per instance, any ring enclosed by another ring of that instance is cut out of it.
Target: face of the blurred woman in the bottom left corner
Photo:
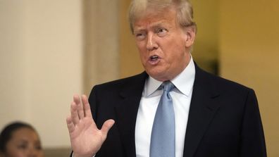
[[[6,144],[6,157],[43,157],[41,142],[38,134],[27,127],[13,132]]]

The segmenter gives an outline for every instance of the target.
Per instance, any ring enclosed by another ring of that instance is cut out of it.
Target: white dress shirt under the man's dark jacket
[[[185,133],[192,98],[195,68],[194,61],[190,60],[185,70],[171,82],[175,89],[170,92],[175,111],[175,157],[182,157],[184,150]],[[151,130],[163,90],[157,90],[162,82],[148,77],[144,84],[142,99],[140,100],[135,126],[135,147],[137,157],[149,157]]]

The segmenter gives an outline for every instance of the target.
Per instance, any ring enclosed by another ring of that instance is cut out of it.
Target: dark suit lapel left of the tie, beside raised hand
[[[120,132],[120,138],[126,156],[135,157],[135,123],[137,110],[140,105],[144,82],[147,78],[146,73],[135,77],[135,80],[123,86],[120,92],[120,101],[116,106],[116,125]]]

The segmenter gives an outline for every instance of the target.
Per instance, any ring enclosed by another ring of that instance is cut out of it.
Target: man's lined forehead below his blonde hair
[[[173,8],[166,8],[163,11],[147,9],[134,23],[134,29],[143,27],[156,27],[157,25],[176,25],[176,11]]]

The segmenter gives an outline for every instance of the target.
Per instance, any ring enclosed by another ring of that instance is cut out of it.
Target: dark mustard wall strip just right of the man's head
[[[194,21],[197,23],[197,36],[192,56],[201,68],[218,73],[219,55],[219,0],[193,1]]]

